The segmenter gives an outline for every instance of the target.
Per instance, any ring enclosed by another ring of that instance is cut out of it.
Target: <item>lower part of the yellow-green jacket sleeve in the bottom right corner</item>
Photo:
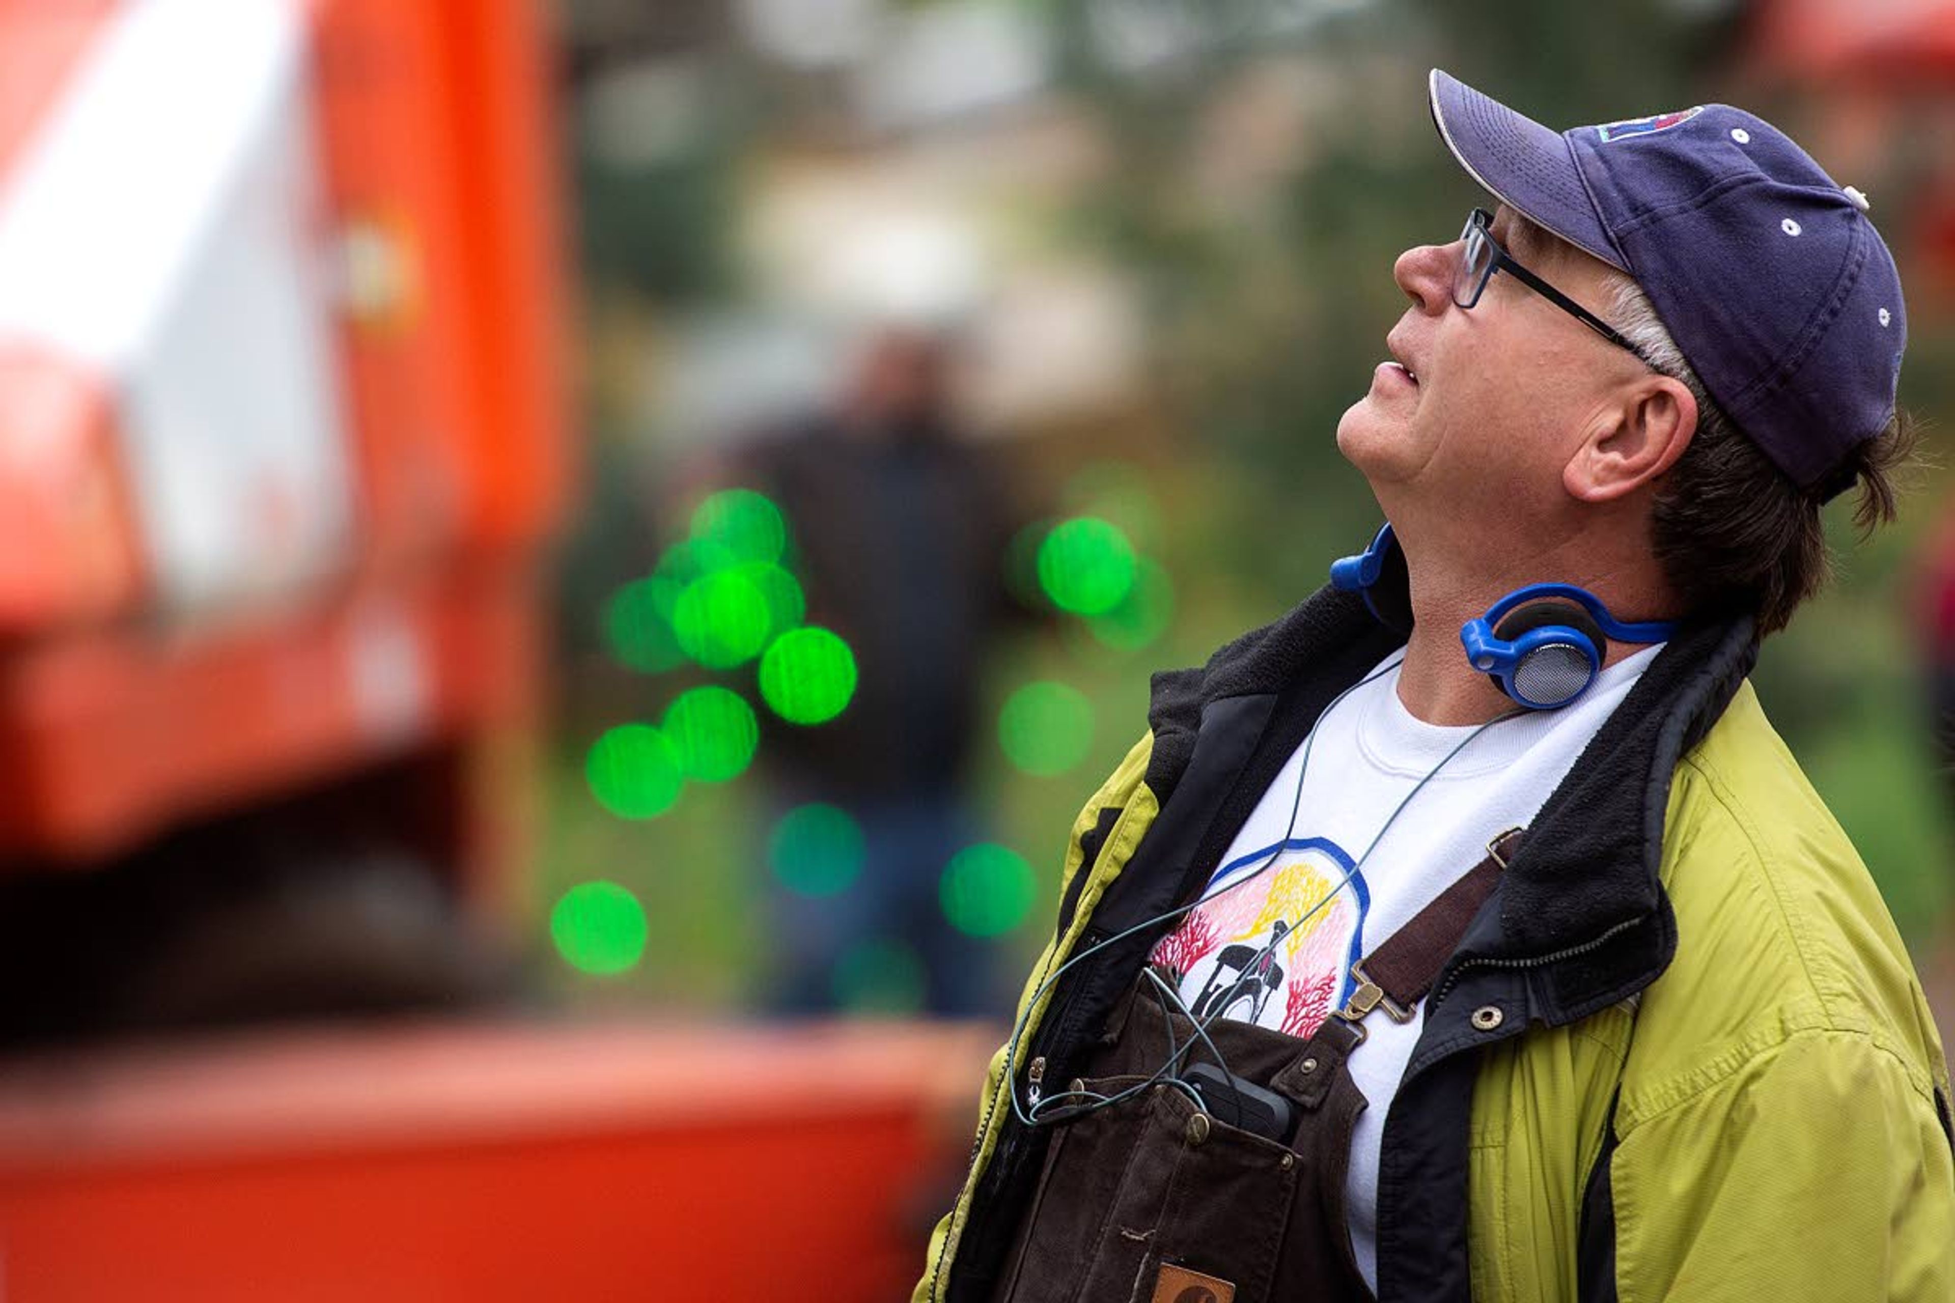
[[[1806,1030],[1697,1080],[1619,1115],[1621,1303],[1955,1299],[1955,1156],[1900,1057]]]

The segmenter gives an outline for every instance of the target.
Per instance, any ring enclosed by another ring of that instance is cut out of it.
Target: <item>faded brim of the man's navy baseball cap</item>
[[[1431,98],[1439,139],[1482,189],[1609,266],[1630,270],[1595,215],[1562,133],[1439,68],[1431,74]]]

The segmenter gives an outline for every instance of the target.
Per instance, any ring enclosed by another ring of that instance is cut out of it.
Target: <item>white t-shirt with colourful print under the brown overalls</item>
[[[1196,1016],[1228,1000],[1224,1018],[1310,1035],[1351,996],[1355,961],[1480,863],[1492,838],[1533,820],[1656,651],[1609,666],[1566,709],[1503,719],[1470,740],[1476,725],[1427,725],[1406,711],[1394,664],[1318,721],[1316,740],[1296,748],[1228,848],[1204,904],[1151,959],[1181,973],[1181,998]],[[1306,748],[1310,770],[1298,797]],[[1427,774],[1431,781],[1392,819]],[[1220,963],[1230,946],[1261,949],[1279,926],[1284,936],[1263,981],[1241,983],[1238,969]],[[1423,1002],[1408,1024],[1378,1010],[1351,1055],[1368,1108],[1351,1139],[1347,1207],[1351,1246],[1374,1293],[1378,1145],[1423,1024]]]

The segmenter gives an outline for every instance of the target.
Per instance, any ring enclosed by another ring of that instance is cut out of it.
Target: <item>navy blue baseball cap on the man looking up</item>
[[[1621,272],[1720,408],[1832,496],[1894,414],[1908,320],[1867,197],[1726,104],[1550,131],[1433,68],[1433,121],[1496,199]]]

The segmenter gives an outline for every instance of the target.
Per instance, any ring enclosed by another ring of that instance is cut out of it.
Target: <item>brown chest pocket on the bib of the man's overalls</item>
[[[1087,1080],[1114,1096],[1144,1076]],[[1269,1295],[1298,1160],[1153,1084],[1060,1123],[999,1303],[1150,1303],[1161,1266]]]

